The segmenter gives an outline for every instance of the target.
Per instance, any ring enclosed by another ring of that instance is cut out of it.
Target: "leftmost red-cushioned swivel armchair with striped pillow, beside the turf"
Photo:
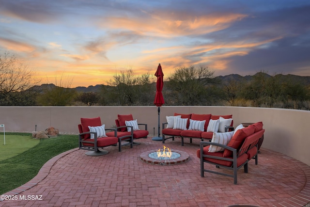
[[[81,118],[81,124],[78,125],[78,143],[79,149],[88,150],[86,155],[89,156],[100,156],[108,154],[109,151],[107,150],[100,150],[101,148],[107,146],[117,146],[117,143],[121,143],[121,140],[124,139],[132,139],[131,136],[122,137],[121,139],[118,138],[116,135],[115,128],[105,128],[105,125],[101,124],[100,117],[96,118]],[[114,136],[107,136],[106,134],[112,131]],[[119,144],[119,151],[120,144]]]

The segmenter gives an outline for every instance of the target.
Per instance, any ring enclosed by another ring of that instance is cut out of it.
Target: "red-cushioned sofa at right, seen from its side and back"
[[[226,133],[214,133],[211,142],[201,142],[197,150],[197,157],[200,158],[201,176],[204,172],[217,175],[233,177],[233,183],[237,184],[237,171],[244,166],[244,172],[248,173],[248,162],[255,159],[258,164],[258,142],[263,137],[263,123],[257,122],[248,127],[242,124],[236,127],[235,131]],[[233,170],[233,175],[221,170],[210,170],[210,165],[217,168]]]

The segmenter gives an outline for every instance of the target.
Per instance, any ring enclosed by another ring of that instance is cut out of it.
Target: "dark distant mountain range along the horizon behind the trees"
[[[258,76],[258,75],[259,75],[259,73],[255,74],[253,76],[240,76],[238,74],[231,74],[231,75],[227,75],[227,76],[217,76],[215,78],[217,80],[221,80],[223,83],[227,83],[227,82],[232,81],[232,80],[234,80],[234,81],[250,81],[253,79],[253,77]],[[265,74],[265,75],[271,77],[268,74]],[[278,74],[278,75],[276,75],[276,77],[278,77],[280,80],[291,80],[292,82],[310,85],[310,76],[296,76],[296,75],[291,75],[291,74],[288,74],[288,75]],[[107,86],[107,85],[103,85],[103,84],[98,84],[95,86],[91,85],[88,87],[78,86],[78,87],[72,88],[72,89],[75,89],[79,93],[89,93],[89,92],[99,92],[102,86],[112,87],[112,86]],[[33,86],[32,88],[37,89],[37,90],[44,90],[47,87],[53,88],[56,86],[51,83],[51,84],[42,84],[40,86]]]

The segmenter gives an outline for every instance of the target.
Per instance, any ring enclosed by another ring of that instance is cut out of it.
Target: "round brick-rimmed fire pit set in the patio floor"
[[[172,150],[171,158],[157,158],[157,151],[150,150],[140,155],[140,160],[153,165],[175,165],[189,160],[189,155],[180,150]]]

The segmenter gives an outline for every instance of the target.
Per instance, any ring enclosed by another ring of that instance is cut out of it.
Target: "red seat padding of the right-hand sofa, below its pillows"
[[[210,147],[210,145],[203,147],[203,154],[204,155],[212,155],[212,156],[216,156],[216,157],[223,157],[223,152],[209,152],[209,147]],[[198,158],[200,158],[200,149],[198,149],[196,151],[196,155]],[[229,157],[229,158],[233,159],[233,157]],[[232,161],[221,160],[221,159],[213,159],[213,158],[203,158],[203,159],[207,160],[209,162],[217,163],[217,164],[224,165],[224,166],[230,167],[233,165]],[[239,156],[237,158],[237,167],[242,165],[245,161],[247,161],[247,159],[248,159],[247,154],[243,154],[243,155]]]

